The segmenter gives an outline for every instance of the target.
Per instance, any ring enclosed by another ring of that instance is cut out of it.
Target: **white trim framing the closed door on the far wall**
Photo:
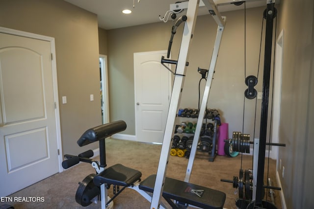
[[[157,53],[159,53],[159,54],[167,54],[167,50],[134,52],[133,53],[133,61],[134,61],[134,54],[147,55],[147,54],[157,54]],[[170,58],[169,59],[171,59],[171,54],[170,54]],[[165,65],[168,66],[169,68],[171,68],[171,66],[169,64],[165,64]],[[137,141],[137,126],[138,126],[138,119],[139,118],[136,117],[136,86],[135,86],[135,82],[136,82],[135,73],[136,73],[136,70],[135,70],[135,68],[133,70],[134,70],[133,73],[134,73],[134,101],[135,101],[135,103],[134,103],[134,116],[135,116],[135,138],[134,138],[134,140]],[[165,68],[164,70],[167,70],[167,69]],[[168,72],[169,72],[169,75],[170,75],[169,78],[168,78],[168,84],[169,84],[168,85],[168,105],[169,105],[170,97],[171,97],[171,93],[172,93],[172,88],[171,87],[172,87],[172,78],[173,78],[173,76],[170,73],[170,71],[168,71]],[[165,118],[165,119],[167,119],[167,118]],[[161,143],[156,143],[156,144],[161,144]]]

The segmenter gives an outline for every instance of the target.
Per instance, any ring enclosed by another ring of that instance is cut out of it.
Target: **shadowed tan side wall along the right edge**
[[[281,1],[278,33],[284,30],[284,57],[278,167],[287,209],[313,208],[314,188],[314,2]],[[297,12],[296,12],[297,11]]]

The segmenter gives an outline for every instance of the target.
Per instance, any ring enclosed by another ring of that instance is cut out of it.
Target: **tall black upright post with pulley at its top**
[[[260,146],[259,146],[256,202],[255,202],[255,205],[258,207],[262,207],[262,190],[263,190],[265,150],[266,150],[266,137],[267,137],[267,116],[268,116],[268,99],[269,99],[269,80],[270,80],[270,70],[271,70],[273,20],[275,17],[274,5],[275,5],[274,2],[267,3],[266,17],[264,17],[266,18],[266,33],[265,33],[264,70],[263,70],[263,87],[262,87]]]

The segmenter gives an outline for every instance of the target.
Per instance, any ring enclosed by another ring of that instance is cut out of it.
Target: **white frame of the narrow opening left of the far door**
[[[109,122],[109,98],[108,98],[108,64],[107,64],[107,55],[100,54],[99,58],[104,60],[101,66],[101,78],[102,78],[102,103],[105,104],[103,123]],[[105,93],[105,94],[104,94]]]

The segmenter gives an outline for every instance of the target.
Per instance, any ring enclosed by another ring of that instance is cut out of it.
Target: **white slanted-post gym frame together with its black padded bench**
[[[204,4],[209,9],[209,13],[214,18],[216,23],[218,23],[218,31],[216,36],[215,47],[212,54],[212,59],[209,67],[208,84],[206,85],[207,91],[203,97],[203,102],[201,106],[201,113],[199,117],[204,117],[207,98],[209,95],[210,83],[212,80],[212,75],[216,63],[216,58],[218,55],[218,49],[220,45],[221,35],[225,24],[225,19],[222,18],[213,2],[213,0],[203,0]],[[84,146],[86,144],[99,141],[100,144],[100,163],[95,161],[80,157],[65,155],[67,160],[64,161],[64,168],[68,168],[74,164],[82,162],[91,163],[96,169],[97,175],[87,176],[83,182],[80,184],[76,198],[79,204],[88,205],[91,201],[100,195],[102,209],[108,206],[120,192],[122,192],[126,187],[132,188],[139,192],[145,199],[151,202],[151,209],[165,208],[163,204],[160,204],[161,196],[167,201],[167,203],[174,209],[178,208],[177,203],[180,203],[180,207],[183,206],[187,208],[188,206],[194,206],[198,208],[206,209],[222,209],[225,203],[226,194],[213,190],[204,186],[198,186],[188,183],[186,181],[180,181],[176,179],[171,179],[165,177],[167,170],[167,163],[169,160],[169,154],[172,144],[172,136],[175,127],[175,119],[179,109],[179,103],[181,99],[181,92],[183,88],[183,81],[185,77],[185,67],[188,65],[186,60],[188,59],[188,50],[190,46],[190,41],[192,39],[194,26],[197,17],[197,11],[199,7],[199,0],[189,0],[185,1],[185,8],[187,8],[186,17],[179,18],[172,29],[172,34],[176,32],[176,27],[184,22],[182,44],[180,47],[180,53],[178,61],[167,61],[171,64],[176,64],[176,70],[174,74],[174,84],[171,94],[171,101],[169,105],[169,111],[167,116],[166,128],[163,137],[163,144],[161,148],[161,155],[159,159],[157,175],[151,175],[143,182],[139,183],[141,178],[140,171],[134,170],[132,168],[126,167],[121,164],[116,164],[111,167],[106,168],[105,163],[105,138],[115,134],[119,131],[126,129],[126,124],[124,121],[111,122],[105,125],[101,125],[92,129],[87,130],[80,139],[78,139],[78,145]],[[171,6],[171,5],[170,5]],[[177,5],[175,5],[177,7]],[[178,8],[175,8],[178,9]],[[172,35],[172,38],[173,38]],[[169,43],[171,48],[171,44]],[[170,50],[170,49],[169,49]],[[169,70],[169,69],[168,69]],[[171,70],[170,70],[171,71]],[[200,133],[201,124],[196,126],[196,133]],[[199,126],[199,127],[198,127]],[[194,148],[193,148],[194,147]],[[188,179],[189,174],[192,169],[192,164],[195,157],[197,142],[193,141],[191,155],[188,165]],[[194,150],[193,150],[194,149]],[[83,154],[84,155],[84,154]],[[185,178],[186,179],[186,178]],[[114,196],[108,201],[107,200],[107,189],[113,185]],[[123,186],[122,189],[119,189]],[[152,196],[149,193],[153,193]]]

